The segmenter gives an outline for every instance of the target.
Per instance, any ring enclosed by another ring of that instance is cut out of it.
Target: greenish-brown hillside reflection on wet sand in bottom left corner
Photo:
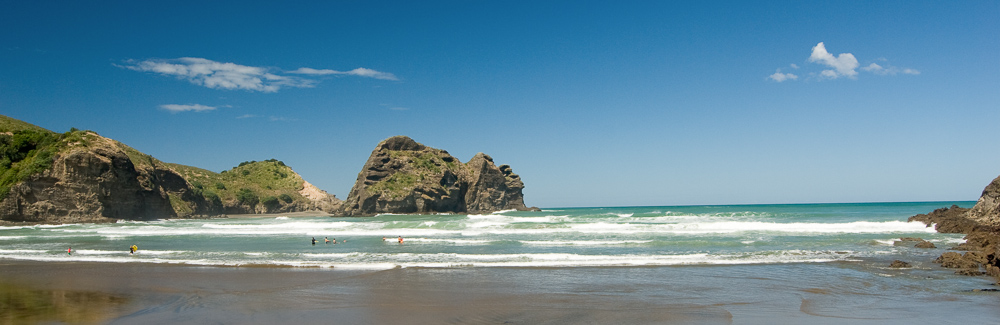
[[[45,290],[0,282],[0,323],[103,323],[117,317],[127,302],[104,292]]]

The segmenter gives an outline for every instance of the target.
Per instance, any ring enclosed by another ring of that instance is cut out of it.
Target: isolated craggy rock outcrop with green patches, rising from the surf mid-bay
[[[350,194],[336,213],[489,213],[531,210],[524,183],[508,165],[497,167],[478,153],[462,163],[447,151],[406,136],[380,142],[365,162]]]

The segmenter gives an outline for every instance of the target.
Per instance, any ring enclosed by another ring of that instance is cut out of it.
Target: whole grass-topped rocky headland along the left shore
[[[214,173],[161,162],[93,131],[55,133],[0,116],[0,222],[333,211],[339,203],[277,160]]]

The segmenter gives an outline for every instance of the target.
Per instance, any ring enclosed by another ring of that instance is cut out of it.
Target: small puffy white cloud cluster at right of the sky
[[[879,60],[886,61],[881,58]],[[877,63],[871,63],[867,66],[861,67],[861,64],[858,62],[858,59],[853,53],[840,53],[835,56],[827,51],[826,45],[823,44],[823,42],[819,42],[819,44],[813,46],[812,53],[806,61],[810,63],[817,63],[826,67],[826,69],[819,72],[807,72],[807,75],[812,76],[808,79],[816,80],[829,80],[841,77],[857,79],[859,69],[864,72],[871,72],[881,76],[896,74],[920,74],[920,71],[917,69],[899,68],[891,65],[882,66]],[[799,69],[799,66],[794,63],[789,66],[796,70]],[[798,77],[798,75],[792,73],[782,73],[779,68],[774,72],[774,74],[767,76],[767,79],[774,80],[776,82],[783,82],[787,80],[798,80]]]

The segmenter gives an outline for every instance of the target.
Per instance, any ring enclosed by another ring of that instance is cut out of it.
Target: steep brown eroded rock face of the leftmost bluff
[[[0,201],[0,219],[67,223],[177,216],[156,182],[171,172],[136,170],[113,140],[96,134],[89,139],[86,146],[60,152],[52,168],[12,186]]]

